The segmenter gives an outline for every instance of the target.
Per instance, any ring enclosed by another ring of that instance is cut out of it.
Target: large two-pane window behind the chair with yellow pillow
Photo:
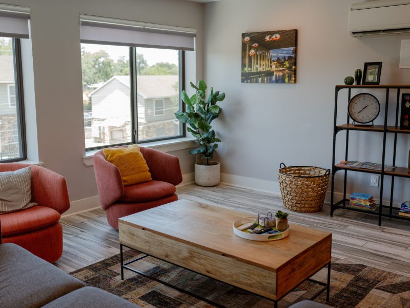
[[[81,44],[86,149],[182,137],[174,114],[182,108],[181,57],[172,49]]]

